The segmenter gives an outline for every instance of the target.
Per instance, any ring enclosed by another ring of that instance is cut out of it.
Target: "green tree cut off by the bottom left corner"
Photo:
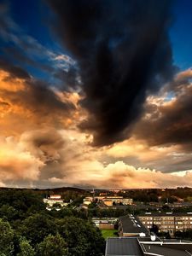
[[[8,221],[0,218],[0,255],[13,255],[14,252],[14,230]]]

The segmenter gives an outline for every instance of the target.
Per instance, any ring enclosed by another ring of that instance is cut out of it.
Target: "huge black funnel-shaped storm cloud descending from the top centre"
[[[172,77],[170,1],[48,0],[54,29],[79,64],[81,129],[95,145],[122,141],[149,93]]]

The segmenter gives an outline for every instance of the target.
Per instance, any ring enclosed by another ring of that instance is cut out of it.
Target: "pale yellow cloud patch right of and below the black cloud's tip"
[[[163,172],[189,170],[191,152],[183,152],[177,144],[150,147],[144,140],[131,137],[106,149],[106,154],[115,160],[125,160],[133,166],[147,166]]]

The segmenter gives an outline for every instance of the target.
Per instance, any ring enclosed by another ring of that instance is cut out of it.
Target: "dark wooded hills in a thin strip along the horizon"
[[[15,189],[15,188],[0,188],[0,192],[5,189],[11,190],[28,190],[47,197],[49,195],[59,194],[65,200],[75,199],[77,197],[92,196],[92,189],[80,189],[73,187],[62,187],[53,189]],[[134,201],[192,201],[192,188],[178,187],[177,189],[122,189],[119,192],[114,192],[108,189],[94,189],[95,195],[106,193],[107,195],[120,195],[130,197]]]

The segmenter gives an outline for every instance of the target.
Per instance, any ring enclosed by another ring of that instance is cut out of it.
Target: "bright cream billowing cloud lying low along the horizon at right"
[[[183,177],[176,174],[166,174],[145,168],[135,168],[117,161],[108,166],[101,162],[84,162],[77,172],[68,173],[67,177],[49,178],[50,183],[67,183],[68,185],[88,185],[108,189],[142,189],[165,188],[177,186],[190,186],[192,172],[187,172]]]

